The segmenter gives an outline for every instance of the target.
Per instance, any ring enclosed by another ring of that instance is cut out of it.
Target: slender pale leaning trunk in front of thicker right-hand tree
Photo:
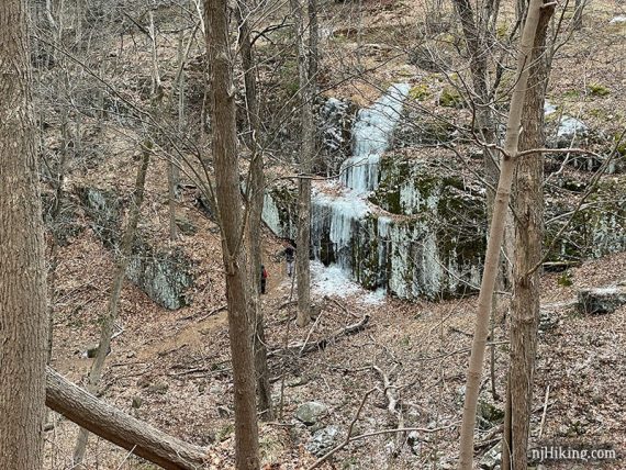
[[[489,313],[495,287],[495,278],[500,260],[500,247],[504,235],[506,212],[511,194],[511,184],[517,155],[517,144],[519,139],[519,127],[522,122],[522,111],[526,85],[528,82],[528,59],[535,43],[535,33],[539,22],[543,0],[530,0],[528,16],[524,25],[519,54],[517,57],[517,71],[513,97],[508,111],[508,122],[506,124],[506,137],[500,170],[500,181],[495,194],[493,206],[493,219],[490,226],[490,236],[484,259],[484,271],[479,294],[479,306],[476,321],[476,329],[472,342],[472,350],[468,369],[466,399],[463,406],[463,421],[461,426],[460,459],[459,468],[471,470],[473,461],[473,430],[476,425],[476,411],[478,395],[480,392],[480,379],[484,360],[484,349],[489,335]]]

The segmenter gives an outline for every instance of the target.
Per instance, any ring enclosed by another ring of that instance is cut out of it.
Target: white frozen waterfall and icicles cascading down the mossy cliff
[[[433,299],[476,284],[480,258],[459,257],[454,237],[433,223],[448,209],[440,201],[445,181],[428,177],[425,191],[420,188],[420,165],[398,166],[393,156],[383,156],[409,91],[406,83],[391,86],[373,105],[360,110],[353,125],[353,156],[343,163],[339,178],[314,186],[312,254],[326,266],[338,265],[368,289]],[[390,195],[381,182],[389,186],[392,180]],[[293,237],[294,199],[284,189],[266,194],[264,221],[279,236]]]

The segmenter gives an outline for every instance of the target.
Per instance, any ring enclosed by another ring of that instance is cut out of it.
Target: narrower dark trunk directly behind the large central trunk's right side
[[[244,10],[245,9],[245,10]],[[259,279],[261,257],[261,213],[265,195],[264,157],[260,139],[260,115],[257,96],[257,66],[250,41],[250,11],[245,3],[239,3],[237,22],[239,25],[239,54],[244,66],[244,82],[246,86],[246,115],[249,126],[250,169],[246,199],[248,204],[248,223],[246,237],[250,250],[250,279]],[[253,324],[255,372],[257,379],[257,406],[262,421],[273,419],[271,407],[271,385],[267,365],[267,347],[265,339],[264,312],[259,299],[259,282],[253,282]]]

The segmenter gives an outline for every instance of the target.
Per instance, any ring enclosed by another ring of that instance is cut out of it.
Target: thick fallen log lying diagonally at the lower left
[[[46,406],[85,429],[168,470],[198,470],[208,449],[169,436],[46,369]]]

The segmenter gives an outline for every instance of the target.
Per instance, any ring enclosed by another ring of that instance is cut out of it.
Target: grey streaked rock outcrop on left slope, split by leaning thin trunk
[[[105,247],[118,249],[122,220],[119,195],[99,188],[81,188],[78,194],[96,236]],[[182,251],[155,248],[138,233],[126,276],[153,301],[176,310],[187,304],[186,291],[193,284],[191,268]]]

